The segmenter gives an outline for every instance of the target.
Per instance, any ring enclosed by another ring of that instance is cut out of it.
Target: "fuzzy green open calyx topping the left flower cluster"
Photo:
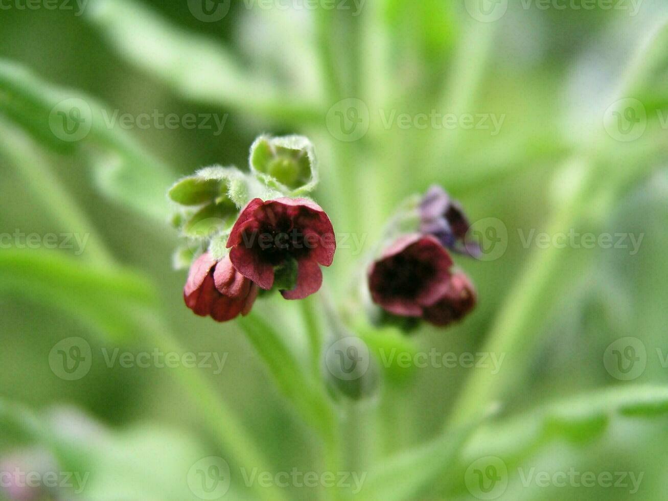
[[[318,184],[315,148],[303,136],[260,136],[251,146],[250,164],[259,180],[287,195],[307,194]]]

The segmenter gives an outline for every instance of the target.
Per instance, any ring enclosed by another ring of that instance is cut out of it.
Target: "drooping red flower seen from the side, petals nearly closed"
[[[192,263],[183,288],[188,308],[218,322],[232,320],[239,313],[248,315],[258,293],[257,285],[234,269],[229,256],[216,262],[209,253]]]

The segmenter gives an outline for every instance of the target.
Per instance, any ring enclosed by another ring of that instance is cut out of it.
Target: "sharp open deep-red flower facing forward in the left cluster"
[[[285,299],[303,299],[320,289],[319,265],[334,259],[336,240],[325,211],[305,198],[255,198],[241,211],[227,240],[230,260],[247,279],[269,290],[276,267],[297,264],[295,288]]]

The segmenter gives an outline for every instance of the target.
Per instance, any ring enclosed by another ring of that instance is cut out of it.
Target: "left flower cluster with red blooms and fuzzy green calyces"
[[[261,290],[304,299],[334,259],[329,217],[315,202],[296,198],[317,182],[315,156],[305,138],[262,137],[251,148],[251,173],[212,167],[176,183],[177,226],[198,254],[183,295],[196,315],[219,322],[247,315]],[[289,196],[285,196],[289,195]]]

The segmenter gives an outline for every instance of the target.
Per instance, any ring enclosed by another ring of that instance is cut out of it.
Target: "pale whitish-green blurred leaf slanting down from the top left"
[[[187,99],[233,106],[280,122],[322,120],[312,100],[305,102],[288,86],[246,71],[225,47],[170,25],[138,3],[100,0],[85,15],[112,49]]]

